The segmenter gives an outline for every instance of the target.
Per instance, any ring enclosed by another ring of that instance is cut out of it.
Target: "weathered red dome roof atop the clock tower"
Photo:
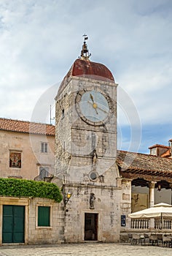
[[[95,80],[114,83],[114,77],[112,75],[112,72],[103,64],[88,61],[85,59],[77,59],[76,61],[74,61],[74,64],[71,66],[71,68],[69,69],[69,72],[63,79],[63,82],[60,84],[58,95],[65,88],[66,79],[71,76],[91,78]]]

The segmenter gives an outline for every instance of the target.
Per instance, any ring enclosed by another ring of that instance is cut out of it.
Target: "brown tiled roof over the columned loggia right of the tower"
[[[172,174],[171,158],[157,157],[149,154],[117,151],[117,165],[119,165],[124,171],[141,170],[153,173]]]

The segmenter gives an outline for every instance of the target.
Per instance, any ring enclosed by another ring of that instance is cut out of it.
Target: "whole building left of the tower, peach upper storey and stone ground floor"
[[[54,126],[0,118],[1,178],[52,181],[54,148]],[[55,200],[0,196],[0,245],[63,241],[63,208]]]

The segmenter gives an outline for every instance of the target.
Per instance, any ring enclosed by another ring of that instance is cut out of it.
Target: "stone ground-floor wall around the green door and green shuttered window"
[[[0,197],[0,245],[3,242],[3,206],[25,207],[24,244],[61,244],[64,242],[62,203],[38,197]],[[50,227],[38,226],[38,206],[50,206]]]

